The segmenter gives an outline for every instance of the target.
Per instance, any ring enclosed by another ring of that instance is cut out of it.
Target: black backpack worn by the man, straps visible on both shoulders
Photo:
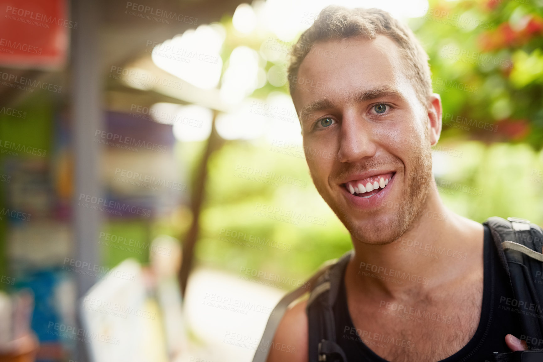
[[[543,231],[538,225],[519,218],[491,217],[484,222],[490,229],[503,268],[507,271],[517,303],[525,303],[533,312],[520,314],[523,335],[529,351],[494,352],[495,362],[543,361]],[[350,362],[336,343],[336,325],[332,306],[336,301],[339,281],[345,272],[351,252],[339,260],[326,262],[301,288],[287,294],[277,303],[252,362],[266,362],[275,331],[289,304],[309,292],[307,318],[310,362]],[[538,285],[538,287],[535,287]],[[532,308],[533,306],[533,308]]]

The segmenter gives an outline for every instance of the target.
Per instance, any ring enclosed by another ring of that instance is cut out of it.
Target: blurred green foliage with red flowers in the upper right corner
[[[430,1],[409,25],[430,56],[444,107],[443,138],[543,142],[543,3]],[[447,115],[451,115],[447,117]],[[469,130],[459,128],[475,124]],[[489,131],[484,123],[497,126]]]

